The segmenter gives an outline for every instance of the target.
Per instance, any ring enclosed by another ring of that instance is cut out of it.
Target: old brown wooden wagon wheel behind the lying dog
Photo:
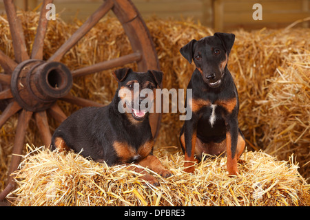
[[[147,69],[159,69],[159,65],[147,27],[130,0],[105,0],[48,61],[43,61],[43,41],[48,25],[48,20],[45,18],[47,12],[45,5],[52,3],[52,0],[43,1],[31,54],[28,54],[25,46],[25,37],[21,21],[17,18],[14,2],[4,0],[3,3],[10,25],[15,60],[0,50],[0,65],[4,69],[4,72],[0,73],[0,83],[2,84],[0,85],[0,104],[7,103],[0,115],[0,128],[12,115],[19,113],[12,162],[9,169],[9,173],[12,173],[19,165],[21,158],[16,155],[22,153],[25,132],[32,115],[37,122],[43,143],[48,146],[51,133],[48,126],[47,111],[58,122],[62,122],[66,118],[65,113],[56,104],[56,100],[61,99],[82,107],[103,106],[92,100],[68,94],[74,77],[94,74],[134,62],[137,64],[138,72],[145,72]],[[133,53],[70,71],[59,61],[110,10],[114,12],[123,25],[125,34],[132,45]],[[153,114],[150,118],[154,137],[158,133],[160,119],[159,113]],[[14,188],[12,176],[8,177],[7,184],[8,186],[0,195],[0,201]]]

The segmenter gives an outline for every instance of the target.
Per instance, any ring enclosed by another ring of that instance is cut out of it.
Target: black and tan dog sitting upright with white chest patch
[[[180,49],[187,61],[194,60],[196,65],[187,86],[187,91],[192,89],[192,98],[187,98],[192,118],[180,132],[187,172],[194,172],[194,157],[199,161],[202,153],[225,152],[229,175],[238,175],[237,161],[245,149],[245,137],[238,127],[238,91],[227,69],[234,40],[234,34],[215,33]]]

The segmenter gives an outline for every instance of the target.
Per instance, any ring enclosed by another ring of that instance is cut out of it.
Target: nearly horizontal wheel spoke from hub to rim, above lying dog
[[[141,53],[136,52],[133,54],[128,54],[125,56],[121,56],[118,58],[114,58],[110,61],[103,61],[101,63],[96,63],[94,65],[91,65],[89,67],[83,67],[81,69],[76,69],[72,71],[72,76],[85,76],[87,74],[94,74],[96,72],[101,72],[106,69],[112,69],[115,67],[121,67],[123,65],[134,63],[136,61],[140,61],[142,58]]]

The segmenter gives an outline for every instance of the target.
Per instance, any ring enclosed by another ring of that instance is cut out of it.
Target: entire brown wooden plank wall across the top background
[[[41,0],[14,0],[17,8],[33,10]],[[253,30],[260,28],[283,28],[298,19],[310,17],[310,0],[132,0],[144,19],[182,19],[192,17],[216,31],[236,28]],[[103,0],[54,0],[56,13],[65,21],[86,19]],[[262,5],[262,21],[254,21],[254,3]],[[0,14],[4,13],[0,0]],[[112,14],[112,13],[111,13]],[[300,24],[310,27],[310,22]]]

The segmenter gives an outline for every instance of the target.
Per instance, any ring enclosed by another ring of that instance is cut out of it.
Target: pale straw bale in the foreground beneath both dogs
[[[43,147],[28,145],[28,150],[16,172],[14,206],[310,205],[310,185],[298,173],[293,156],[278,161],[262,151],[246,151],[242,156],[246,164],[238,164],[240,176],[230,178],[227,157],[205,158],[193,175],[183,171],[183,155],[157,151],[173,175],[165,179],[148,170],[160,181],[161,186],[154,187],[127,170],[127,165],[109,167],[73,152]]]

